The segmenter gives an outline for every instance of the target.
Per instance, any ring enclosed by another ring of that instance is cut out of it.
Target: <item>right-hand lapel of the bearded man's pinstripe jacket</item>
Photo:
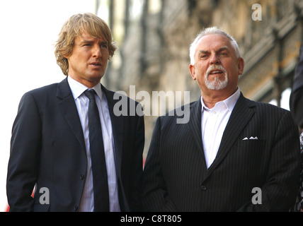
[[[256,104],[253,101],[246,99],[241,93],[224,130],[217,157],[207,170],[207,176],[213,172],[215,167],[217,167],[222,160],[224,160],[224,157],[239,137],[241,131],[243,131],[248,121],[253,117],[253,114],[255,113],[254,106],[256,106]]]

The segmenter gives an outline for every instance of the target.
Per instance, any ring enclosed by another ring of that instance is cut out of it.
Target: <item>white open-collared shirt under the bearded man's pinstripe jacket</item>
[[[222,136],[229,121],[234,105],[240,96],[239,88],[236,93],[228,97],[226,100],[217,102],[215,107],[209,109],[203,102],[202,114],[201,114],[201,131],[202,131],[202,143],[204,148],[204,155],[207,169],[212,165],[212,162],[217,156],[219,145],[222,140]]]

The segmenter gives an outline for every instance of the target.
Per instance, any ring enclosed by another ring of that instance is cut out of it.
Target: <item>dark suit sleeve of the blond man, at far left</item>
[[[8,160],[6,193],[10,211],[33,210],[41,123],[35,100],[29,93],[23,95],[13,123],[11,153]]]

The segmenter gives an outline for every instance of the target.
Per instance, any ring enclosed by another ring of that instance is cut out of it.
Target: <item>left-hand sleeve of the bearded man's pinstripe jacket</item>
[[[161,117],[156,120],[143,172],[143,210],[154,212],[178,211],[168,197],[161,172]]]

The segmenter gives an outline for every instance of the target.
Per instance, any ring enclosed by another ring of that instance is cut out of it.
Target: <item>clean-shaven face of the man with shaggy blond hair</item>
[[[88,88],[100,83],[108,64],[108,42],[93,38],[88,32],[74,40],[72,54],[65,56],[69,61],[69,76]]]

